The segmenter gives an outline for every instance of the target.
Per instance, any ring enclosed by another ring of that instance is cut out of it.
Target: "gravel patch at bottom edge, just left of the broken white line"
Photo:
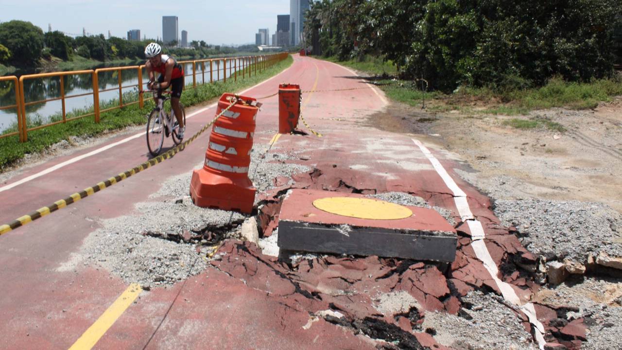
[[[471,291],[463,301],[473,305],[461,311],[463,316],[429,311],[422,328],[435,331],[437,342],[456,350],[537,349],[518,315],[499,296]]]

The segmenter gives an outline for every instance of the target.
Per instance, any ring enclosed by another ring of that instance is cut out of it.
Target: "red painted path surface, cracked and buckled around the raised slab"
[[[295,153],[300,159],[288,161],[314,170],[294,176],[292,186],[286,186],[287,181],[280,179],[275,183],[282,187],[258,194],[261,199],[272,201],[262,214],[262,227],[274,229],[271,219],[277,218],[281,204],[274,195],[288,187],[342,193],[358,189],[364,194],[409,192],[424,197],[431,205],[453,210],[459,221],[451,192],[411,138],[364,126],[366,118],[384,106],[383,99],[373,89],[325,91],[366,85],[337,65],[295,56],[289,70],[244,95],[255,98],[271,95],[281,82],[300,85],[304,98],[302,116],[323,137],[282,135],[274,144],[272,153]],[[317,91],[309,92],[313,87]],[[267,144],[278,126],[278,98],[261,102],[264,105],[256,121],[254,141]],[[210,108],[188,119],[187,135],[193,135],[214,115],[215,108]],[[140,128],[104,144],[142,132]],[[5,335],[0,337],[1,349],[67,349],[80,337],[127,284],[88,264],[68,271],[60,271],[58,267],[80,251],[83,239],[97,229],[100,220],[131,215],[135,203],[153,201],[149,194],[157,191],[167,177],[190,176],[193,168],[203,163],[208,140],[209,133],[205,133],[174,158],[0,237],[0,318],[4,320],[0,323],[0,334]],[[98,147],[39,164],[6,183]],[[460,168],[460,164],[445,158],[443,153],[431,151],[466,192],[471,211],[486,230],[486,247],[494,262],[499,265],[510,258],[533,262],[535,257],[506,228],[499,226],[499,220],[490,210],[490,201],[453,173],[452,169]],[[132,168],[146,161],[146,154],[141,135],[0,192],[0,222],[16,219]],[[220,248],[221,253],[226,253],[223,260],[213,262],[201,275],[169,288],[142,293],[96,348],[141,349],[149,342],[149,349],[372,349],[379,343],[355,336],[352,329],[354,321],[371,318],[401,329],[401,336],[407,341],[418,339],[425,346],[442,349],[420,330],[407,332],[404,315],[380,315],[374,308],[374,298],[381,293],[405,291],[419,301],[422,310],[416,311],[425,317],[426,310],[457,312],[457,296],[474,288],[496,290],[494,281],[470,247],[468,227],[458,224],[457,230],[463,237],[458,242],[456,260],[447,271],[434,265],[378,257],[315,258],[302,260],[292,269],[262,255],[253,244],[230,241]],[[523,298],[537,288],[515,273],[499,277],[516,283],[514,289]],[[179,297],[175,299],[178,292]],[[560,343],[554,332],[565,331],[565,339],[573,340],[564,344],[580,344],[583,336],[577,324],[580,322],[565,330],[554,329],[549,321],[556,317],[555,311],[536,306],[549,331],[547,341]],[[344,324],[350,326],[338,326],[320,317],[304,328],[310,315],[327,309],[342,313]]]

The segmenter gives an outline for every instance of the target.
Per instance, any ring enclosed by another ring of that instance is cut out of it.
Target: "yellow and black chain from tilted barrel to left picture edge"
[[[103,190],[106,187],[113,186],[117,182],[123,181],[124,179],[127,179],[128,177],[130,177],[130,176],[132,176],[134,174],[140,173],[143,170],[149,169],[152,166],[155,166],[155,165],[157,165],[159,163],[162,163],[162,161],[164,161],[165,159],[172,158],[179,151],[183,151],[183,149],[185,149],[187,144],[189,144],[192,141],[194,141],[199,135],[201,135],[203,132],[205,132],[205,130],[210,128],[210,126],[213,125],[213,123],[215,123],[215,121],[218,118],[220,118],[220,116],[223,115],[223,113],[228,111],[229,108],[231,108],[233,105],[238,103],[238,101],[239,101],[238,99],[234,100],[234,102],[232,102],[230,106],[228,106],[223,111],[221,111],[217,116],[215,116],[215,118],[213,120],[211,120],[210,123],[208,123],[207,125],[203,126],[203,128],[201,130],[199,130],[198,133],[193,135],[188,140],[183,141],[182,143],[180,143],[175,148],[169,149],[169,151],[167,151],[166,153],[160,154],[156,158],[149,159],[145,163],[142,163],[141,165],[139,165],[139,166],[137,166],[135,168],[129,169],[128,171],[120,173],[117,176],[110,177],[106,181],[99,182],[95,186],[87,187],[87,188],[85,188],[81,192],[76,192],[76,193],[72,194],[71,196],[69,196],[69,197],[67,197],[65,199],[61,199],[60,201],[56,201],[51,206],[42,207],[40,209],[35,210],[34,212],[31,212],[30,214],[24,215],[22,217],[18,217],[16,220],[13,220],[13,221],[9,222],[8,224],[1,225],[0,226],[0,235],[6,234],[7,232],[9,232],[11,230],[17,229],[17,227],[26,225],[29,222],[31,222],[32,220],[36,220],[36,219],[39,219],[40,217],[44,217],[45,215],[48,215],[48,214],[50,214],[52,212],[55,212],[58,209],[62,209],[64,207],[67,207],[68,205],[70,205],[72,203],[75,203],[77,201],[80,201],[80,199],[83,199],[84,197],[91,196],[91,194],[95,194],[95,192],[99,192],[99,191]]]

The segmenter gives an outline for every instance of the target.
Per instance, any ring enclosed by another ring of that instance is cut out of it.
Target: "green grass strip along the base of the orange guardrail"
[[[234,82],[233,79],[228,79],[226,83],[215,82],[205,85],[197,85],[197,88],[192,88],[192,85],[187,85],[181,98],[181,102],[185,106],[197,105],[207,102],[214,98],[220,97],[225,92],[238,92],[246,87],[253,86],[266,78],[272,77],[282,70],[286,69],[292,64],[293,59],[291,56],[287,59],[277,63],[276,65],[269,67],[268,69],[254,75],[249,78],[248,73],[246,78],[242,79],[238,73],[238,81]],[[247,71],[248,72],[248,71]],[[275,86],[276,91],[276,86]],[[127,98],[127,99],[126,99]],[[124,95],[124,101],[129,102],[136,100],[136,93],[128,93]],[[105,106],[102,105],[101,109],[108,106],[118,105],[117,101],[106,102]],[[0,139],[0,172],[5,171],[7,167],[16,163],[19,159],[24,158],[25,154],[38,153],[48,148],[52,144],[58,143],[62,140],[70,141],[71,136],[90,137],[108,133],[109,131],[120,130],[132,125],[143,125],[146,123],[145,115],[153,108],[152,102],[146,102],[144,108],[131,105],[124,106],[115,110],[101,113],[100,123],[93,122],[93,116],[87,116],[77,120],[68,121],[67,123],[60,123],[52,125],[47,128],[39,130],[29,131],[28,141],[20,143],[17,136],[10,136]],[[83,110],[74,110],[68,113],[68,117],[72,115],[81,115],[90,113],[93,111],[93,106],[85,108]],[[60,120],[62,116],[60,113],[50,117],[49,120]],[[30,126],[37,125],[38,123],[49,123],[49,120],[41,120],[38,116],[29,116]],[[16,130],[16,126],[9,128],[4,133],[9,133],[12,130]]]

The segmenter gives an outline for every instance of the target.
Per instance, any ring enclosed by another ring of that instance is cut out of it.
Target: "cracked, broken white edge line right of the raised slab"
[[[456,207],[458,208],[458,214],[460,214],[460,217],[463,218],[462,220],[466,222],[469,229],[471,230],[471,247],[473,247],[476,257],[481,260],[486,270],[488,270],[488,273],[490,273],[490,276],[493,278],[494,283],[496,283],[496,285],[499,287],[503,298],[505,300],[508,300],[519,310],[521,310],[522,313],[524,313],[529,319],[529,323],[531,323],[534,328],[536,328],[536,332],[534,332],[534,334],[536,334],[536,341],[539,348],[541,350],[544,350],[544,344],[546,344],[546,341],[544,340],[544,326],[542,326],[542,323],[540,323],[540,321],[538,321],[537,319],[536,308],[534,308],[534,305],[532,303],[526,303],[524,305],[521,305],[521,300],[516,294],[516,291],[514,291],[514,289],[512,288],[512,286],[509,285],[509,283],[499,280],[499,278],[497,277],[499,269],[494,263],[493,258],[490,256],[488,248],[486,248],[486,244],[484,242],[484,228],[481,225],[480,220],[477,220],[475,219],[475,217],[473,217],[473,213],[471,212],[471,209],[468,206],[468,202],[466,201],[465,192],[462,191],[460,187],[458,187],[456,182],[453,181],[452,177],[447,173],[447,171],[445,171],[445,168],[443,168],[443,166],[440,164],[439,160],[435,158],[435,156],[430,152],[429,149],[424,146],[423,143],[421,143],[421,141],[415,139],[411,140],[417,146],[419,146],[419,149],[421,149],[422,153],[425,154],[430,163],[432,163],[432,166],[434,166],[434,169],[437,171],[437,173],[439,173],[439,176],[443,179],[443,182],[445,182],[445,186],[447,186],[450,191],[453,192],[453,198]]]

